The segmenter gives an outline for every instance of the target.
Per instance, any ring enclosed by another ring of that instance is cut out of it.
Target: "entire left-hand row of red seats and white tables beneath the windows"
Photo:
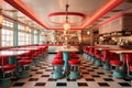
[[[23,46],[0,51],[0,87],[11,85],[11,78],[30,76],[31,66],[36,66],[47,54],[48,46]]]

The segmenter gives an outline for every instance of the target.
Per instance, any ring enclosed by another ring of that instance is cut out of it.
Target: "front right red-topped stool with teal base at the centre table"
[[[79,64],[80,61],[76,59],[76,58],[70,58],[68,61],[69,65],[70,65],[70,70],[69,70],[69,79],[78,79],[80,78],[80,72],[79,72]]]

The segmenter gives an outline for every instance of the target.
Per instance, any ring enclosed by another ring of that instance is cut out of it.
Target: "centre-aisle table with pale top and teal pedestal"
[[[78,50],[75,46],[70,47],[65,47],[65,46],[59,46],[56,52],[62,52],[63,53],[63,59],[65,61],[64,63],[64,75],[68,75],[69,73],[69,64],[68,59],[70,58],[70,53],[72,52],[78,52]]]

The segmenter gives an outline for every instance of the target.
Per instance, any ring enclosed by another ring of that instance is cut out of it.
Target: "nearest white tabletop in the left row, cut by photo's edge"
[[[16,56],[28,52],[29,51],[0,51],[0,56]]]

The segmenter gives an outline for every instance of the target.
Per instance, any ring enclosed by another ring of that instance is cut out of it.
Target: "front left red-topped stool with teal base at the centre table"
[[[53,65],[53,79],[59,79],[63,78],[63,65],[64,65],[64,61],[61,58],[55,58],[52,62]]]

